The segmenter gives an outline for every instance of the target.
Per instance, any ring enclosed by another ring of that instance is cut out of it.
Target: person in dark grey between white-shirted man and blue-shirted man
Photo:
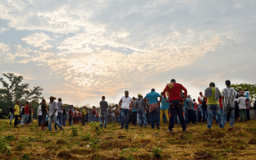
[[[145,120],[146,104],[145,104],[144,99],[141,94],[138,94],[138,99],[136,100],[135,107],[138,110],[138,125],[140,125],[140,127],[142,127],[144,124],[145,127],[147,127],[147,120]]]

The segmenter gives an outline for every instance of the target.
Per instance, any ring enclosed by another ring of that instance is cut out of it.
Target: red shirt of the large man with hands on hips
[[[180,96],[180,90],[184,90],[185,92],[185,98],[187,97],[187,89],[182,86],[182,84],[179,83],[173,83],[173,88],[170,89],[169,86],[166,85],[164,88],[164,98],[166,98],[166,91],[169,92],[169,100],[182,100],[182,97]]]

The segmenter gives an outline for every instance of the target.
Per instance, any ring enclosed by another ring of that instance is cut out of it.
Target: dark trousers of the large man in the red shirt
[[[179,116],[180,124],[182,126],[182,130],[186,131],[186,122],[183,116],[183,107],[182,107],[182,100],[171,100],[169,104],[169,112],[170,112],[170,120],[169,120],[169,130],[172,131],[174,127],[174,118],[175,118],[175,111]]]

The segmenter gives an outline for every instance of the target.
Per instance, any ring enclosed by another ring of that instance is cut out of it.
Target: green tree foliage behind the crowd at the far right
[[[250,102],[253,103],[253,101],[256,99],[256,84],[247,84],[247,83],[241,83],[241,84],[231,84],[231,87],[234,88],[234,90],[238,90],[238,88],[241,88],[241,90],[248,89],[250,91]]]

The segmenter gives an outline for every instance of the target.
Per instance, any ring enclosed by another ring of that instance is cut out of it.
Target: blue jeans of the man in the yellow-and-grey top
[[[216,116],[218,117],[220,128],[223,128],[222,118],[220,116],[220,105],[208,105],[207,108],[208,108],[208,119],[207,119],[208,129],[211,129],[212,127],[212,115],[214,114],[214,111],[216,112]]]

